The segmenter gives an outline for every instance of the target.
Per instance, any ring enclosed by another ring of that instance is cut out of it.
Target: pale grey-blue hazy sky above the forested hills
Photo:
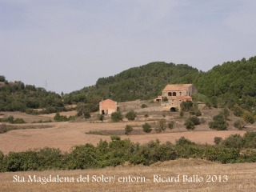
[[[0,75],[69,93],[162,61],[210,70],[256,51],[255,0],[0,0]]]

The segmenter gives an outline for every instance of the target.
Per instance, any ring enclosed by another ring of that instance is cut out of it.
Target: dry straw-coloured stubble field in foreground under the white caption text
[[[50,179],[50,175],[51,181],[42,184],[43,178]],[[54,182],[54,177],[58,176],[59,179],[55,180],[58,182]],[[171,177],[174,177],[173,181]],[[223,165],[201,159],[178,159],[151,166],[117,166],[99,170],[8,172],[0,174],[0,191],[253,192],[256,191],[256,163]]]

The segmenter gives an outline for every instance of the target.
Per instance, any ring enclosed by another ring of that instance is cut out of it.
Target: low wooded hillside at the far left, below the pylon
[[[65,108],[59,94],[42,87],[8,82],[4,76],[0,76],[0,83],[0,111],[35,113],[33,109],[45,108],[42,113],[50,113]]]

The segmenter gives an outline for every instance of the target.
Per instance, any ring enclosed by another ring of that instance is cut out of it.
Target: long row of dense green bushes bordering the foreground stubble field
[[[74,146],[70,152],[47,147],[6,155],[0,151],[0,170],[77,170],[118,166],[125,162],[149,166],[176,158],[202,158],[222,163],[256,162],[256,133],[253,132],[243,137],[231,135],[214,146],[198,145],[186,138],[179,138],[175,144],[161,144],[159,140],[139,144],[118,136],[111,139],[111,142],[101,140],[97,146]]]

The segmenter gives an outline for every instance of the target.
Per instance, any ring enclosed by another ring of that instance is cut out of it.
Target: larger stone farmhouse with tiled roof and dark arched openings
[[[180,108],[181,102],[192,101],[191,95],[197,90],[193,84],[173,84],[167,85],[162,90],[162,95],[155,98],[166,110],[176,111]]]

